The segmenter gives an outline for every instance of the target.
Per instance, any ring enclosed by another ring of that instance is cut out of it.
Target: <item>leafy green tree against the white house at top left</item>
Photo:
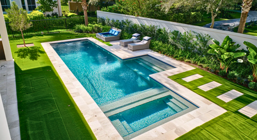
[[[57,8],[58,6],[57,1],[53,0],[38,0],[36,3],[40,4],[36,7],[36,10],[41,10],[45,13],[45,17],[47,16],[46,12],[53,12],[53,7]]]

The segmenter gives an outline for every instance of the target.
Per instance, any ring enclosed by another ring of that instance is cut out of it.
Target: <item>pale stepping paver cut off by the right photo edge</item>
[[[257,114],[257,101],[252,102],[238,111],[251,118]]]

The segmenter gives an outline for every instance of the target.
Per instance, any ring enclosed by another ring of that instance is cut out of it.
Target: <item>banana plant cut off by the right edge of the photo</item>
[[[253,82],[256,82],[257,80],[257,47],[255,45],[253,45],[252,43],[250,42],[244,42],[244,45],[246,45],[248,48],[248,51],[249,51],[249,55],[247,56],[247,60],[250,62],[250,66],[253,70],[253,77],[254,77],[254,80]]]

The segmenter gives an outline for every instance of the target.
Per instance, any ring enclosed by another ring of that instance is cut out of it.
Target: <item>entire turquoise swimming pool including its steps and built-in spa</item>
[[[149,77],[174,68],[151,56],[122,60],[88,40],[51,46],[124,139],[197,108]]]

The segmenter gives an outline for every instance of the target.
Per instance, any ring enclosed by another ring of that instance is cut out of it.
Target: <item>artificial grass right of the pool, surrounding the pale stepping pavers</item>
[[[186,82],[181,79],[194,74],[200,74],[204,77],[190,82]],[[179,137],[177,140],[257,139],[257,115],[249,118],[237,111],[257,100],[257,93],[255,91],[198,68],[170,76],[169,78],[228,110],[227,113],[196,127],[190,132]],[[198,86],[212,81],[218,82],[222,85],[206,92],[198,88]],[[216,97],[231,91],[232,89],[235,89],[244,95],[237,97],[228,103],[225,103]]]

